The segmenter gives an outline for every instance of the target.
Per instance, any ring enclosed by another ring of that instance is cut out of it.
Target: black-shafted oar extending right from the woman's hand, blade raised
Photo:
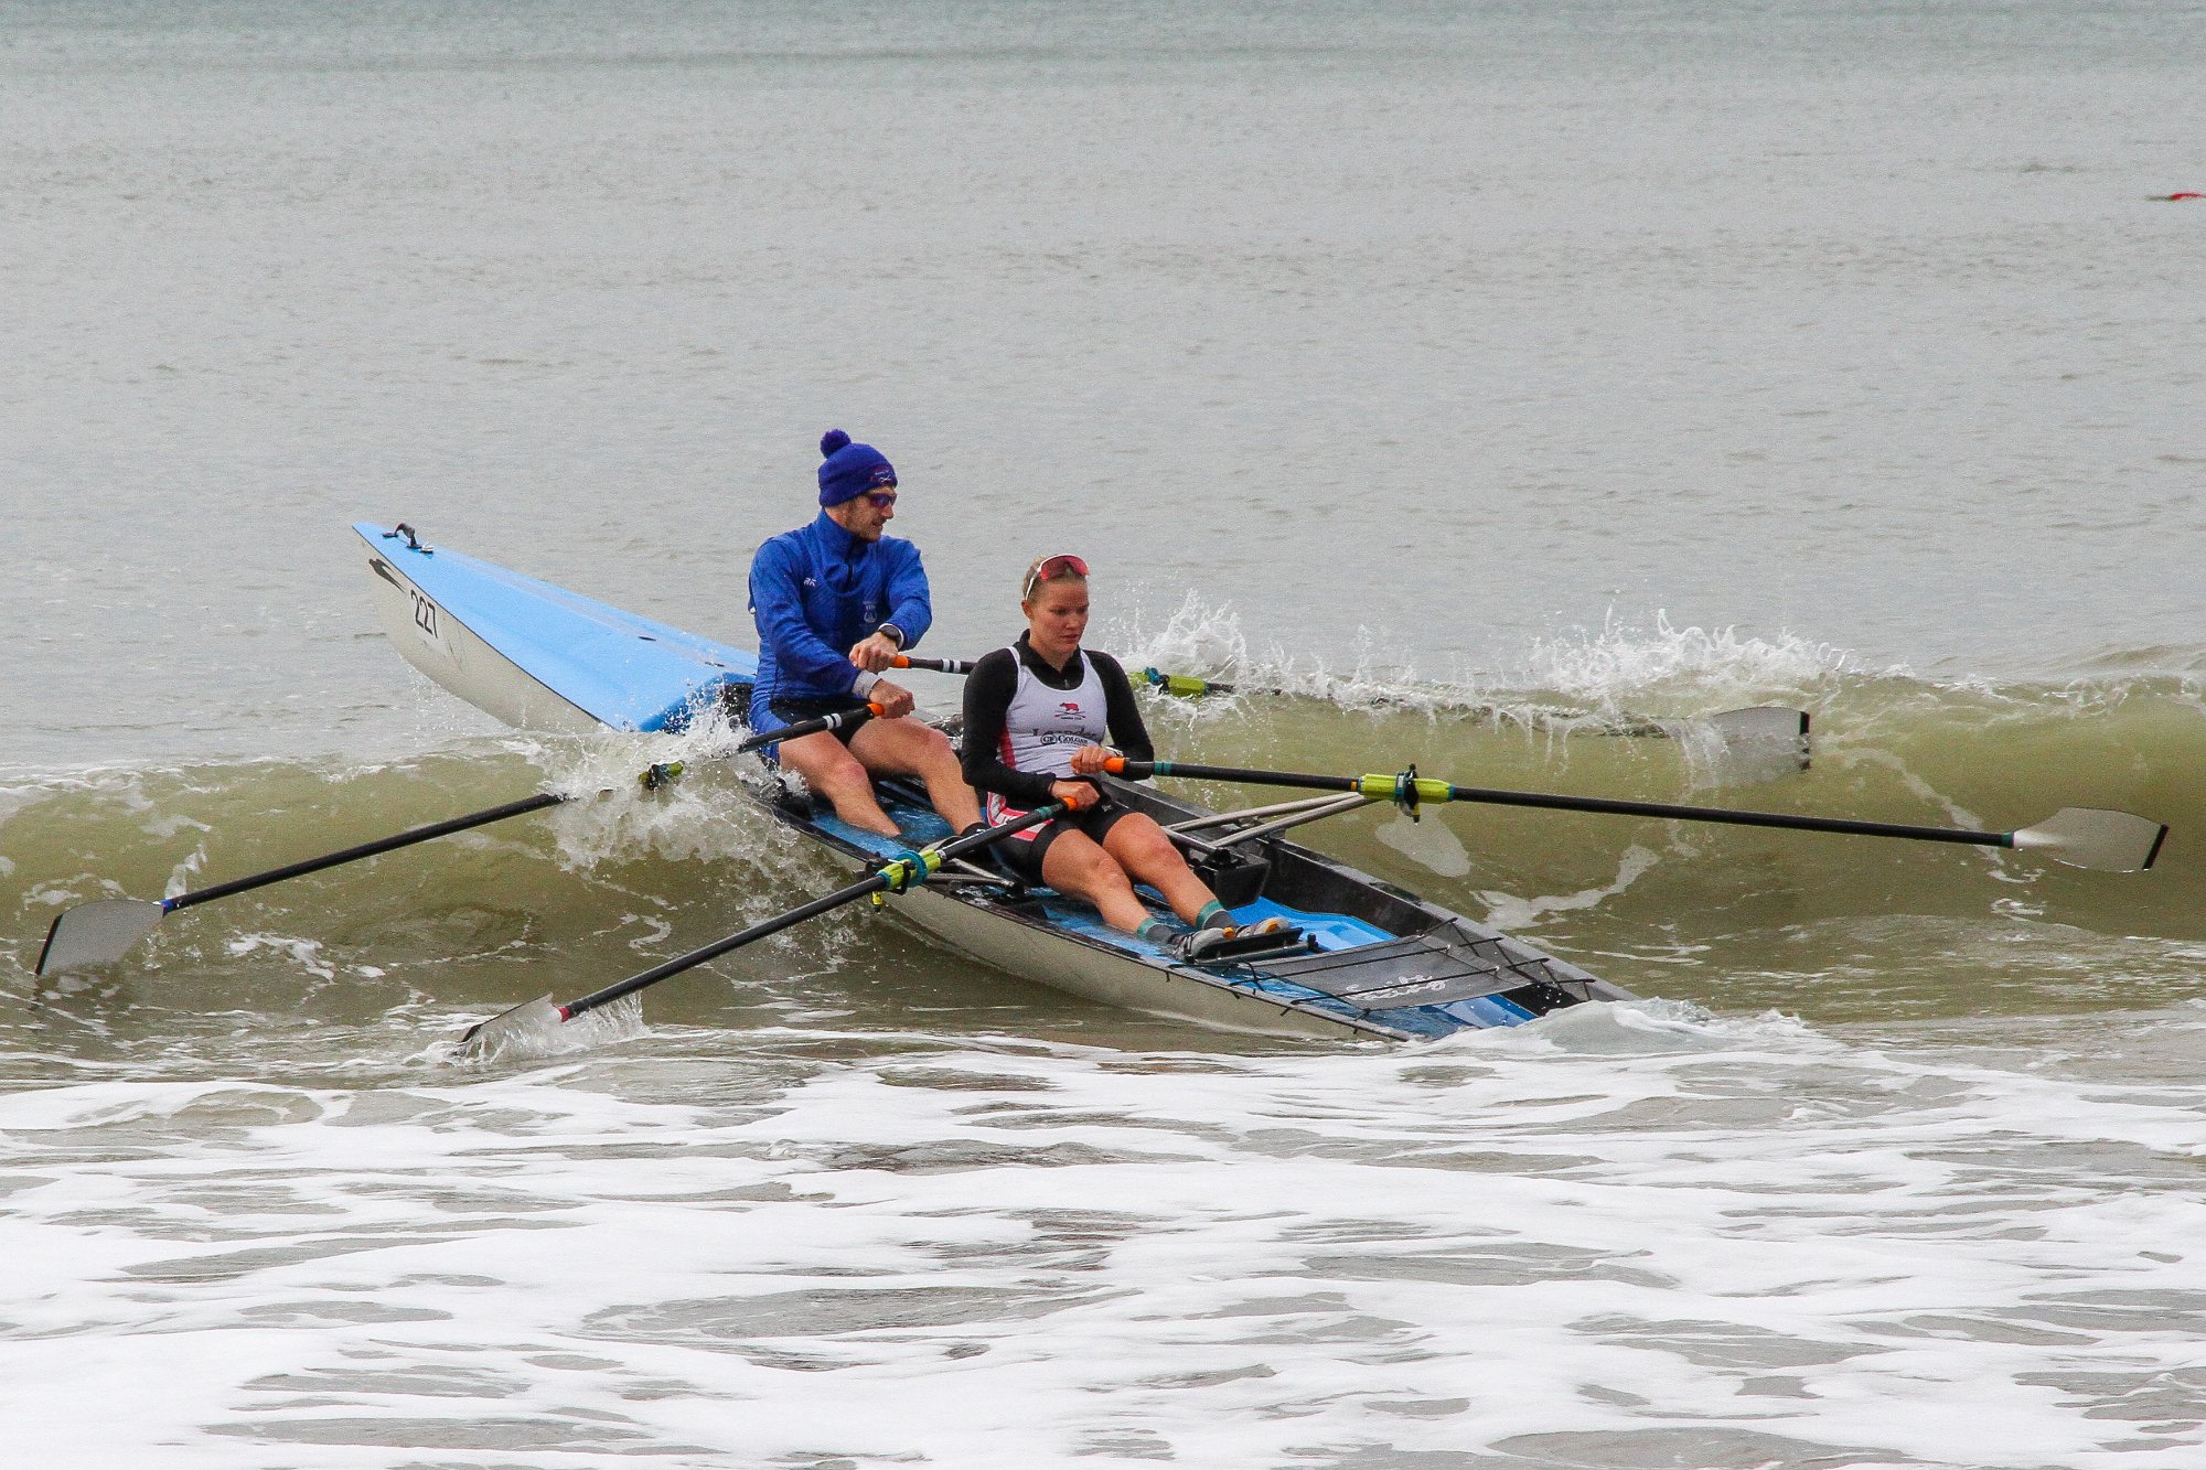
[[[1196,781],[1244,781],[1251,786],[1297,786],[1308,790],[1352,790],[1374,801],[1394,801],[1412,817],[1427,801],[1485,801],[1489,806],[1540,806],[1557,812],[1608,812],[1615,817],[1670,817],[1679,821],[1718,821],[1741,828],[1791,828],[1796,832],[1851,832],[1855,837],[1906,837],[1926,843],[1974,843],[1979,848],[2023,848],[2045,852],[2071,867],[2105,872],[2142,872],[2160,856],[2168,828],[2133,812],[2111,812],[2096,806],[2067,806],[2014,832],[1977,832],[1970,828],[1915,828],[1895,821],[1853,821],[1846,817],[1791,817],[1787,812],[1734,812],[1721,806],[1670,806],[1663,801],[1615,801],[1608,797],[1551,797],[1535,790],[1487,790],[1449,786],[1416,775],[1326,777],[1291,770],[1240,770],[1235,766],[1189,766],[1187,761],[1129,761],[1112,757],[1112,775],[1187,777]]]

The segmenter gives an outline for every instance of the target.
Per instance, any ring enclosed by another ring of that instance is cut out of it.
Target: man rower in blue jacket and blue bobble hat
[[[750,611],[759,625],[759,682],[750,728],[878,704],[882,713],[840,731],[768,746],[807,790],[827,797],[854,828],[896,837],[874,797],[874,775],[909,775],[951,823],[979,821],[979,801],[942,731],[911,720],[911,693],[880,678],[898,651],[935,620],[920,550],[882,528],[896,516],[896,468],[840,428],[821,439],[821,514],[783,532],[750,561]],[[847,649],[847,651],[845,651]]]

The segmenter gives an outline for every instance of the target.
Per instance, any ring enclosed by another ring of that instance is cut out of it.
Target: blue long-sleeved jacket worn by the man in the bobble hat
[[[779,731],[777,697],[847,695],[858,680],[852,645],[882,622],[915,645],[935,620],[920,547],[896,536],[860,541],[823,510],[750,558],[750,616],[759,625],[759,682],[750,728]]]

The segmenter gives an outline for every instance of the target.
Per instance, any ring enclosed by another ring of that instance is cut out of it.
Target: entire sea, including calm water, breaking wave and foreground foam
[[[2180,2],[0,2],[9,1455],[2206,1463],[2202,139]],[[664,755],[351,521],[743,642],[832,426],[920,651],[1079,552],[1178,759],[2175,830],[1326,823],[1646,995],[1410,1048],[843,912],[459,1059],[849,878],[713,775],[33,976]],[[1743,704],[1813,768],[1595,733]]]

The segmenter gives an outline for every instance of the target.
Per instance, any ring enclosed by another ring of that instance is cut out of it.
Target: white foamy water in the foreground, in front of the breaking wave
[[[79,1463],[2089,1468],[2199,1426],[2186,1097],[1782,1018],[117,1082],[0,1123],[0,1247],[51,1287],[0,1393]]]

